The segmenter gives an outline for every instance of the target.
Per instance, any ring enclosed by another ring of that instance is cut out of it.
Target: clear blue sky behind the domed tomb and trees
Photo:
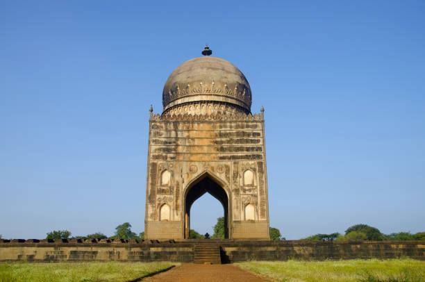
[[[206,42],[265,107],[271,226],[425,231],[424,15],[424,1],[1,1],[0,234],[142,231],[149,105]],[[202,197],[192,227],[222,213]]]

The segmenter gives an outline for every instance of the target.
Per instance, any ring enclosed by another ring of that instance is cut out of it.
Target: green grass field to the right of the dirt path
[[[252,272],[288,282],[424,282],[425,261],[393,260],[288,260],[235,263]]]

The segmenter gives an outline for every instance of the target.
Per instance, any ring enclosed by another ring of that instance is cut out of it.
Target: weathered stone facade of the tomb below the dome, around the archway
[[[228,197],[229,238],[269,239],[262,114],[151,114],[149,125],[145,238],[185,238],[185,195],[208,176]]]

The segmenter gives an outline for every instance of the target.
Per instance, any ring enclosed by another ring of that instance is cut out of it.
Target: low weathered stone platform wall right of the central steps
[[[222,260],[325,260],[414,258],[425,260],[425,241],[233,242],[220,244]]]

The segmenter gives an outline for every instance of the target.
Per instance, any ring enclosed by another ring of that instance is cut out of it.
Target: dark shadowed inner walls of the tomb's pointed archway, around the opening
[[[199,176],[195,181],[190,183],[185,192],[185,222],[184,222],[184,237],[189,238],[190,233],[190,208],[194,201],[199,199],[203,194],[209,193],[223,206],[224,210],[224,238],[228,238],[228,196],[226,190],[215,181],[214,177],[208,172]],[[213,234],[211,234],[213,235]]]

